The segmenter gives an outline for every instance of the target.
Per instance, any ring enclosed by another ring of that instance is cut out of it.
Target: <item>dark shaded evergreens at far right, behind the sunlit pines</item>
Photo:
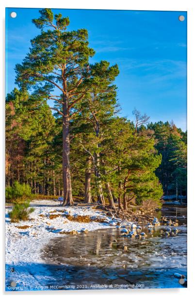
[[[154,131],[155,148],[162,154],[162,163],[156,174],[162,183],[165,195],[180,195],[187,192],[187,132],[182,132],[174,123],[159,121],[147,126]]]

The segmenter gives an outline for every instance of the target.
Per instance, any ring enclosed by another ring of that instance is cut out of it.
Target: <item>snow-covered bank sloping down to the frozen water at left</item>
[[[111,219],[104,212],[88,206],[62,207],[54,200],[33,200],[31,206],[34,212],[28,221],[11,223],[11,207],[6,211],[6,290],[25,290],[26,287],[29,290],[28,287],[34,284],[41,288],[42,277],[46,273],[40,256],[50,239],[62,236],[62,233],[83,233],[85,230],[116,227],[121,222],[120,219]],[[67,215],[89,216],[92,221],[70,221]],[[37,273],[38,278],[34,275]],[[16,282],[16,287],[10,287],[11,282]]]

